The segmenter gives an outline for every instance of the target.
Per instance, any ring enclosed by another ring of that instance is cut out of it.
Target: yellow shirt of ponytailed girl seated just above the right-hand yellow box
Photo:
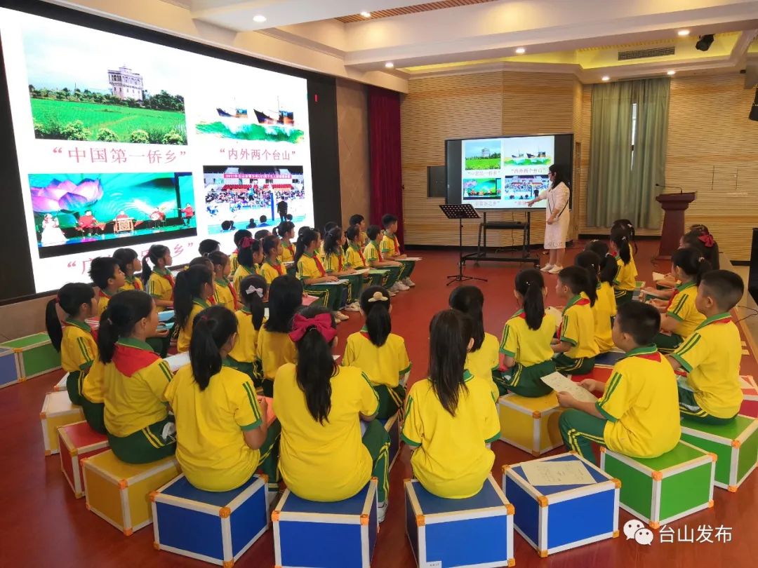
[[[500,353],[513,357],[522,367],[531,367],[553,358],[550,342],[556,332],[556,320],[549,314],[542,317],[540,329],[530,329],[523,310],[517,311],[506,321]]]

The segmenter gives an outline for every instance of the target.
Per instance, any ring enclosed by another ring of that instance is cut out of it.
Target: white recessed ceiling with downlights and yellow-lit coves
[[[49,0],[274,61],[405,90],[409,77],[484,68],[575,73],[585,83],[736,71],[758,30],[755,0],[499,0],[342,23],[336,17],[413,0]],[[264,23],[253,17],[265,16]],[[687,38],[677,30],[691,30]],[[716,36],[708,52],[699,34]],[[677,55],[627,64],[620,45],[676,45]],[[609,46],[615,46],[613,49]],[[515,48],[526,55],[515,56]],[[592,57],[587,49],[596,50]],[[753,54],[755,51],[755,55]],[[506,59],[507,58],[507,59]],[[394,69],[385,68],[392,61]]]

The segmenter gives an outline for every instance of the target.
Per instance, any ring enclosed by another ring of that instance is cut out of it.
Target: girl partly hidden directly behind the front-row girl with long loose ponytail
[[[500,398],[496,382],[500,376],[500,342],[491,333],[484,332],[484,294],[476,286],[460,286],[453,290],[448,300],[453,310],[461,311],[471,318],[474,326],[474,346],[466,357],[466,369],[478,379],[487,382],[493,398]],[[503,392],[503,395],[505,392]]]

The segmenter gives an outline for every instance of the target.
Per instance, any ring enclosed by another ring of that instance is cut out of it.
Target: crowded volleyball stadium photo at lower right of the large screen
[[[278,225],[280,201],[287,202],[295,224],[308,214],[302,166],[205,166],[203,180],[210,234],[244,229],[251,221],[255,226]]]

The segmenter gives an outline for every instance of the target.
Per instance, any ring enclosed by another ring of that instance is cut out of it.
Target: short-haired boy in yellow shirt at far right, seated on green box
[[[734,420],[742,404],[740,332],[729,311],[742,298],[744,283],[728,270],[703,274],[695,307],[706,317],[694,333],[667,358],[678,377],[679,410],[683,417],[707,424]]]

